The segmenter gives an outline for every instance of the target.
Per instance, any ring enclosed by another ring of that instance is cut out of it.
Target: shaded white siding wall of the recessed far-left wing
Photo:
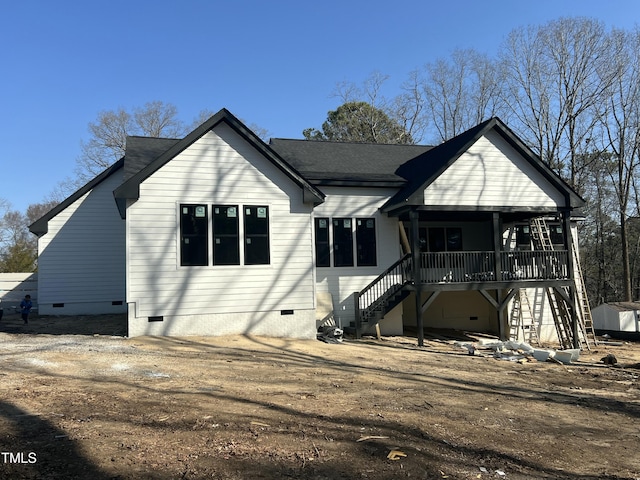
[[[38,239],[41,314],[124,310],[125,222],[113,199],[121,182],[116,172],[49,220]]]

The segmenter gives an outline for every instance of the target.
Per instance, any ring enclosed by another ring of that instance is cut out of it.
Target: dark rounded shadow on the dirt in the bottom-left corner
[[[109,478],[64,431],[38,414],[0,400],[2,478]]]

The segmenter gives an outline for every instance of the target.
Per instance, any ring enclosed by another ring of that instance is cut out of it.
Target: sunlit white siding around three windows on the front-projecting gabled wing
[[[244,265],[241,246],[240,265],[213,265],[210,235],[208,265],[180,266],[180,204],[267,206],[270,263]],[[257,321],[258,312],[312,310],[310,211],[298,185],[219,124],[145,180],[128,207],[127,299],[138,317],[254,312]]]

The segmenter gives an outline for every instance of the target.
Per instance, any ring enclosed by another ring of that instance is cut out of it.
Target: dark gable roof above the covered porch
[[[546,180],[562,192],[568,207],[574,208],[584,204],[584,200],[542,162],[511,129],[499,118],[493,117],[401,165],[396,173],[407,179],[407,183],[381,207],[382,211],[390,212],[409,205],[422,205],[421,193],[424,189],[490,130],[497,132]]]

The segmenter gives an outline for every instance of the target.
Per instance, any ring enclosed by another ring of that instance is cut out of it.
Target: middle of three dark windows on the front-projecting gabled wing
[[[240,265],[237,205],[213,206],[213,264]]]

